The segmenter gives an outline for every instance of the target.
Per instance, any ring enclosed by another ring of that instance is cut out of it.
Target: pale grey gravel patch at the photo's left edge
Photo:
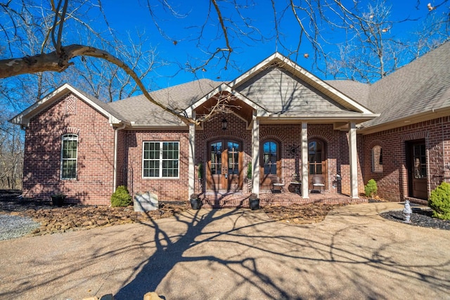
[[[41,226],[27,216],[11,216],[0,214],[0,240],[10,240],[22,237]]]

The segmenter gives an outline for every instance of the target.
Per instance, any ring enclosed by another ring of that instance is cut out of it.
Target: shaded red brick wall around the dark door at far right
[[[401,126],[364,136],[364,183],[371,178],[378,183],[378,195],[390,201],[409,196],[406,169],[406,142],[423,139],[427,150],[428,195],[442,181],[450,182],[450,117]],[[383,148],[383,173],[373,173],[371,149]]]

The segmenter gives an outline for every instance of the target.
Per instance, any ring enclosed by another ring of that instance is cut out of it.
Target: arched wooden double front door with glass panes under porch
[[[241,190],[242,143],[221,139],[208,145],[207,189]]]

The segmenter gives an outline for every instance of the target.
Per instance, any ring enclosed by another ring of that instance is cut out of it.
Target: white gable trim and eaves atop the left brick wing
[[[32,119],[32,117],[38,115],[39,112],[42,112],[53,103],[56,103],[56,101],[60,100],[60,98],[67,95],[68,93],[75,94],[75,96],[83,100],[85,103],[91,105],[91,107],[94,107],[95,110],[97,110],[102,115],[107,117],[111,124],[120,124],[123,122],[120,114],[115,110],[113,110],[112,108],[108,107],[106,103],[103,103],[101,100],[98,100],[93,96],[87,95],[86,93],[82,93],[81,91],[75,89],[70,84],[63,84],[55,91],[49,93],[44,98],[35,102],[26,110],[20,112],[20,114],[13,117],[13,119],[11,119],[10,122],[13,124],[28,126],[28,124],[30,123],[30,119]]]

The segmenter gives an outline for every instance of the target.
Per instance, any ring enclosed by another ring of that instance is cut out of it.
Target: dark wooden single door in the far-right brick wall
[[[408,156],[409,195],[414,198],[427,200],[427,155],[425,141],[409,143]]]

